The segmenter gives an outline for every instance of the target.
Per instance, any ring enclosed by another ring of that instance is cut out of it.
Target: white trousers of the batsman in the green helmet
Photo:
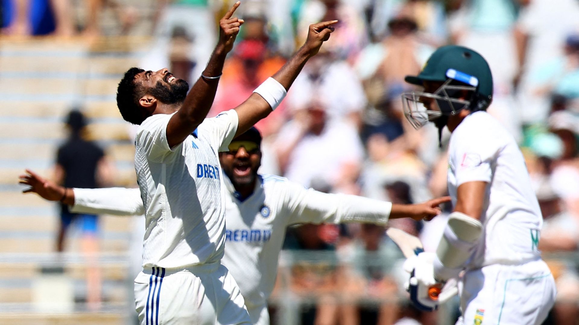
[[[555,304],[555,280],[543,260],[493,264],[467,271],[459,282],[456,325],[541,324]]]

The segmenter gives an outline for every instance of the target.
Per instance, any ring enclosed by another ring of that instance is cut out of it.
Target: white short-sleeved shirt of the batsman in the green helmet
[[[518,264],[540,257],[543,217],[521,150],[505,128],[486,112],[467,116],[450,135],[448,191],[467,182],[488,182],[481,223],[483,237],[469,268]]]

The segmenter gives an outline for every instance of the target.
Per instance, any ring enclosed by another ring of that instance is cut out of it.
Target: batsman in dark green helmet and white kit
[[[471,49],[444,46],[405,80],[424,87],[402,94],[410,123],[431,121],[452,132],[453,212],[436,253],[405,263],[411,285],[422,288],[417,304],[435,306],[424,288],[460,275],[457,324],[541,324],[555,300],[553,276],[537,249],[543,217],[515,139],[486,112],[489,65]]]

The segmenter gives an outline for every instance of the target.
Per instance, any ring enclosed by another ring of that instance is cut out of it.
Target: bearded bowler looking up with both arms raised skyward
[[[280,71],[235,109],[206,119],[243,24],[232,18],[239,5],[220,21],[223,37],[189,93],[185,80],[167,69],[131,68],[119,83],[119,111],[140,125],[135,170],[146,231],[135,302],[141,325],[251,323],[237,283],[221,264],[226,189],[218,152],[277,107],[338,21],[310,25],[305,44]]]

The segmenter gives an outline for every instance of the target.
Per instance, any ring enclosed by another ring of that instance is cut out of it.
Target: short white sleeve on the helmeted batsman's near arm
[[[493,136],[481,136],[477,132],[457,134],[449,155],[455,167],[456,186],[467,182],[490,183],[500,149],[500,142]]]

